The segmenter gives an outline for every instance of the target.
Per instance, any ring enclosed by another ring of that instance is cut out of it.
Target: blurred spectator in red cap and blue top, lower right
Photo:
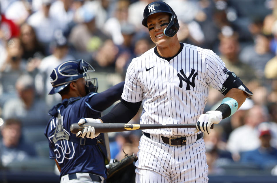
[[[241,155],[241,162],[254,163],[261,169],[273,168],[277,164],[277,149],[270,145],[271,130],[266,126],[260,126],[259,139],[261,145],[252,151],[246,151]]]

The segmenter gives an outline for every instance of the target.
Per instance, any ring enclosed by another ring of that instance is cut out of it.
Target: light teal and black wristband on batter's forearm
[[[238,103],[235,99],[226,97],[222,100],[221,105],[216,109],[216,111],[222,112],[222,119],[233,115],[238,108]]]

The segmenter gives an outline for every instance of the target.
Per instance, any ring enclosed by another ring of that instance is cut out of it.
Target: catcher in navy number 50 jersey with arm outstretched
[[[55,159],[61,172],[62,183],[103,183],[106,179],[109,149],[104,135],[80,139],[70,133],[72,123],[82,117],[100,117],[100,112],[119,100],[122,94],[124,82],[97,93],[98,83],[93,72],[91,65],[81,59],[63,62],[50,75],[53,89],[49,94],[58,92],[62,102],[49,111],[52,118],[44,134],[49,141],[50,158]]]

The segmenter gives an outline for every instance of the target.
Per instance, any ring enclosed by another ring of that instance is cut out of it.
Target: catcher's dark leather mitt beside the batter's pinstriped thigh
[[[135,162],[138,157],[134,153],[130,156],[125,155],[121,161],[113,160],[113,163],[106,165],[107,183],[133,183],[135,182]]]

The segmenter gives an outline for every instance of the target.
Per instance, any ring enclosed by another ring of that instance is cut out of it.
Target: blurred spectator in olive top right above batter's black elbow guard
[[[242,63],[239,56],[239,41],[237,33],[231,29],[225,29],[220,33],[220,58],[226,68],[233,71],[242,81],[250,81],[254,78],[254,70],[248,64]]]

